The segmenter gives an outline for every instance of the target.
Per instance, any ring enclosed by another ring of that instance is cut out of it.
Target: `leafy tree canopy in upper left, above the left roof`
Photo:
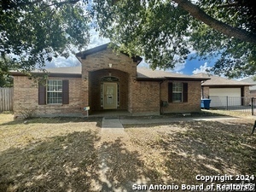
[[[73,45],[83,48],[90,39],[86,4],[79,0],[2,0],[1,57],[9,55],[18,63],[17,69],[31,71],[44,67],[54,56],[67,56]]]

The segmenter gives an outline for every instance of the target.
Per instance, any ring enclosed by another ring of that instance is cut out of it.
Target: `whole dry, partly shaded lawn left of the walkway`
[[[0,117],[0,191],[90,190],[99,119]]]

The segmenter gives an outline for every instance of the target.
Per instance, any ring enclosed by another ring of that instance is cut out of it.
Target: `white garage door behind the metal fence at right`
[[[209,96],[212,100],[211,107],[241,105],[241,88],[210,88]]]

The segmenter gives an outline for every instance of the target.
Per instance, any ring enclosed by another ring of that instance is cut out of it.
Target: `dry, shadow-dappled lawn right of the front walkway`
[[[126,131],[145,169],[154,170],[151,183],[195,184],[197,174],[256,175],[253,119],[133,126],[125,125]]]

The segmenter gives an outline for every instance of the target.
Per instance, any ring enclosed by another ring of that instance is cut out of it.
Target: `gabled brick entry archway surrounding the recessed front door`
[[[137,62],[134,62],[129,56],[124,54],[117,54],[113,52],[113,49],[105,49],[95,54],[87,55],[86,59],[79,58],[79,61],[82,63],[82,77],[83,79],[88,79],[87,83],[84,84],[83,94],[86,97],[86,105],[91,105],[93,109],[98,110],[102,109],[100,107],[100,90],[98,82],[100,79],[100,73],[107,74],[112,73],[114,76],[118,75],[120,77],[121,72],[125,74],[122,82],[120,81],[120,93],[123,96],[120,96],[121,105],[119,109],[128,109],[132,111],[131,104],[133,103],[131,90],[132,83],[137,77]],[[109,64],[112,64],[112,67],[109,67]],[[99,73],[97,73],[99,71]],[[117,74],[117,72],[120,72]],[[97,74],[96,76],[93,74]],[[94,88],[96,87],[96,90]],[[126,96],[125,96],[126,95]],[[96,100],[96,102],[94,102]]]

